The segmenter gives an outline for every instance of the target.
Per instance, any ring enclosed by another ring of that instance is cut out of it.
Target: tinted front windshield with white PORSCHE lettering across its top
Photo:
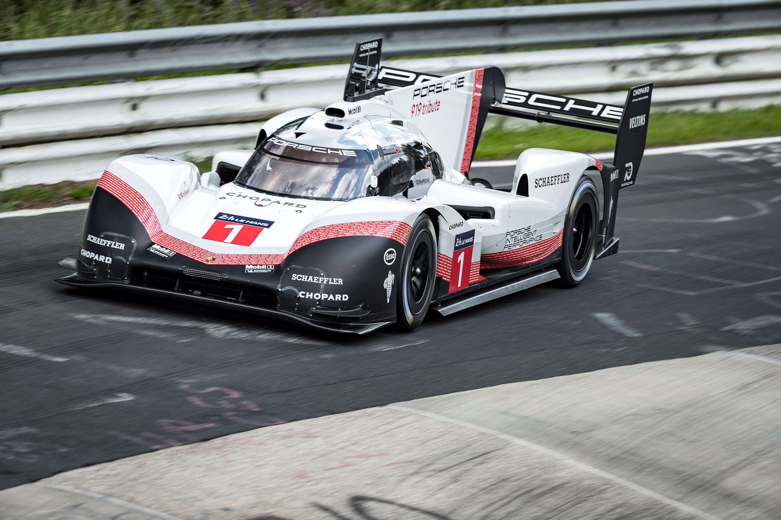
[[[279,195],[350,200],[366,196],[374,173],[367,150],[316,147],[269,137],[237,175],[237,182]]]

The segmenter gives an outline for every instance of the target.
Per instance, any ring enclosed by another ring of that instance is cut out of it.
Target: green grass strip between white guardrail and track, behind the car
[[[648,126],[647,147],[704,143],[781,135],[781,107],[727,112],[654,113]],[[526,148],[596,152],[612,150],[615,137],[566,126],[537,125],[524,129],[496,126],[483,132],[477,160],[515,158]],[[201,172],[212,159],[194,161]],[[39,184],[0,191],[0,211],[59,206],[87,200],[98,181]]]

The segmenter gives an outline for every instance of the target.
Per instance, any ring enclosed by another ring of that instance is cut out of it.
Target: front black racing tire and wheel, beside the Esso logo
[[[428,215],[412,226],[401,253],[401,276],[396,291],[396,325],[412,331],[423,322],[431,305],[437,274],[437,232]]]

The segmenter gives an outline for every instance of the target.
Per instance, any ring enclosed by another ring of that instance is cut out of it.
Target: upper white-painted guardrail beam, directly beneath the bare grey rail
[[[667,104],[660,101],[660,89],[702,85],[692,89],[700,93],[699,101],[687,98],[681,100],[682,104],[672,105],[713,109],[721,108],[721,104],[705,104],[706,100],[714,100],[715,89],[706,87],[708,84],[760,82],[766,88],[761,80],[781,78],[781,35],[393,63],[401,69],[440,76],[497,65],[512,87],[580,94],[601,102],[609,97],[616,104],[623,103],[627,88],[653,81],[655,110]],[[259,121],[301,104],[324,108],[341,98],[347,69],[347,64],[322,65],[5,94],[0,96],[0,147]]]

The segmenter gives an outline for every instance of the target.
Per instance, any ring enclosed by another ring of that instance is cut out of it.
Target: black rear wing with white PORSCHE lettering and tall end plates
[[[403,99],[401,92],[408,90],[406,87],[414,86],[415,89],[424,91],[430,91],[432,86],[438,88],[442,76],[380,66],[381,40],[380,38],[356,45],[344,92],[345,101],[357,101],[379,94],[387,94],[389,97],[398,97],[401,100]],[[376,53],[370,53],[373,49],[376,49]],[[467,71],[466,74],[468,74],[466,83],[470,95],[469,101],[473,107],[473,117],[467,120],[469,146],[459,149],[463,150],[463,159],[455,165],[455,168],[460,169],[465,175],[469,172],[469,165],[488,114],[612,133],[616,136],[613,164],[597,161],[604,190],[601,218],[603,247],[597,253],[597,258],[615,253],[618,249],[618,239],[613,237],[613,231],[619,190],[633,186],[637,181],[640,161],[645,150],[653,83],[630,88],[623,106],[619,106],[561,94],[544,94],[505,87],[504,74],[494,66],[474,69]],[[446,76],[446,78],[454,76],[460,75]],[[388,90],[385,87],[398,88]],[[398,95],[394,95],[397,93]],[[440,129],[439,132],[444,132],[443,129],[447,129],[448,126],[439,124],[437,128]],[[426,135],[428,136],[428,133]]]

